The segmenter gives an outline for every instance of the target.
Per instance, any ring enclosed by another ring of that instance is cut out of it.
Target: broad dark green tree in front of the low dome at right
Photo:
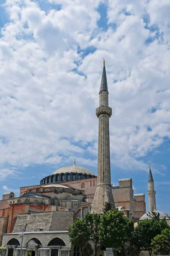
[[[151,256],[153,248],[151,245],[155,236],[161,234],[161,224],[155,218],[146,219],[138,222],[138,225],[134,230],[134,237],[136,241],[136,247],[140,247],[149,252]],[[134,243],[135,243],[134,241]]]

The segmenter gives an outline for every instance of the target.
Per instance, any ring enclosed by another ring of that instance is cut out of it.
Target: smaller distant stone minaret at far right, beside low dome
[[[156,211],[156,192],[154,189],[154,180],[152,176],[151,169],[149,168],[149,178],[148,178],[148,192],[147,192],[148,198],[149,198],[149,211]]]

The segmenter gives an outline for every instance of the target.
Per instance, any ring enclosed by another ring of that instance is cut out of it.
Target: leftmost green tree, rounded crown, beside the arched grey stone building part
[[[75,220],[69,228],[70,241],[79,247],[82,256],[82,247],[90,240],[90,228],[84,218]]]

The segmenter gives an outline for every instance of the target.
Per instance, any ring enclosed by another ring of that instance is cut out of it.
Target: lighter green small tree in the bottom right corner
[[[157,235],[154,237],[151,246],[154,254],[170,255],[170,239],[165,235]]]

